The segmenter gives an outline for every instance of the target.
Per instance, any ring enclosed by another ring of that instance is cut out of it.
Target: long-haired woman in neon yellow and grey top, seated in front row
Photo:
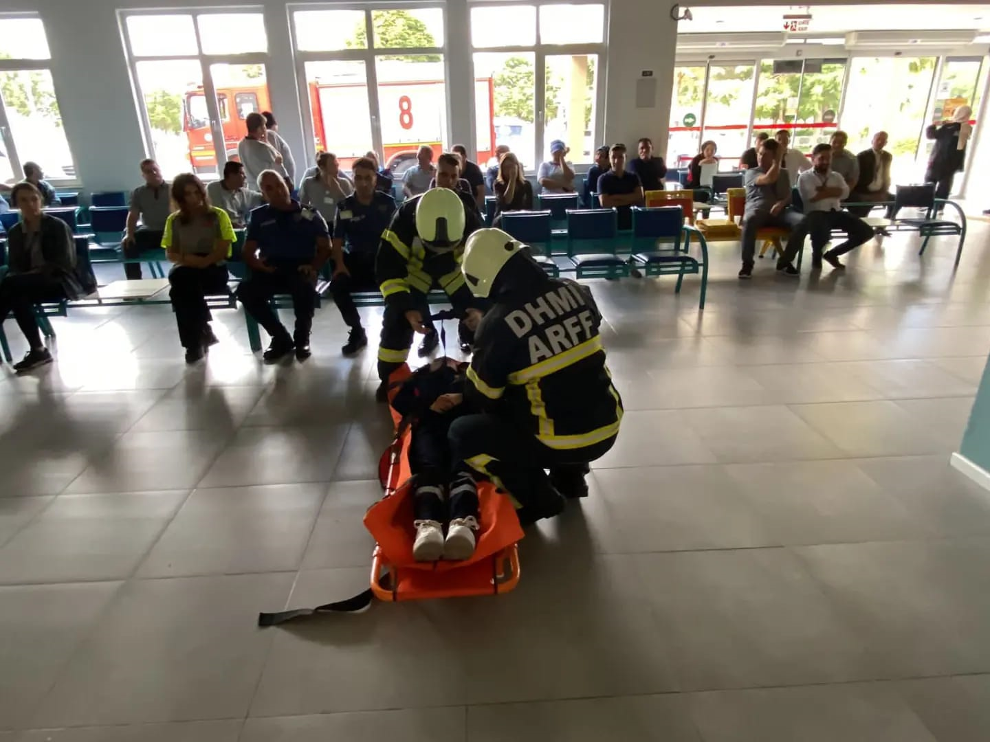
[[[206,297],[227,294],[226,260],[237,235],[227,212],[210,206],[203,182],[192,173],[172,181],[172,201],[178,211],[168,217],[161,237],[172,263],[168,296],[186,363],[195,363],[217,342]]]

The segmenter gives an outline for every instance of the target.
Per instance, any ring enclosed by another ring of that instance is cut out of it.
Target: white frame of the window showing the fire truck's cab
[[[152,139],[151,135],[151,125],[148,120],[148,107],[145,104],[145,93],[142,90],[141,79],[138,76],[138,63],[158,61],[194,61],[199,63],[203,80],[203,94],[206,98],[206,110],[210,118],[210,135],[213,138],[214,143],[213,154],[217,163],[216,173],[198,173],[200,175],[205,175],[207,179],[212,179],[213,176],[219,179],[228,159],[227,140],[224,135],[224,123],[227,120],[221,117],[223,111],[221,110],[220,101],[217,97],[217,88],[213,82],[213,72],[211,71],[211,67],[214,64],[258,64],[264,70],[265,86],[268,84],[267,61],[270,55],[269,49],[266,49],[265,51],[246,51],[241,53],[222,54],[208,54],[203,51],[203,41],[199,27],[199,16],[216,16],[226,14],[257,14],[261,17],[262,24],[264,23],[264,7],[260,5],[232,5],[229,7],[203,6],[159,9],[142,8],[117,11],[117,22],[120,27],[121,39],[124,44],[128,69],[131,74],[131,85],[134,89],[135,106],[137,107],[138,118],[141,122],[146,156],[157,159],[157,155],[154,151],[154,139]],[[196,48],[199,49],[199,53],[195,55],[183,54],[180,56],[160,54],[136,55],[134,52],[134,46],[131,44],[131,38],[127,26],[127,19],[135,16],[190,16],[192,18],[193,33],[195,34],[196,39]],[[267,28],[265,28],[265,44],[270,44],[267,38]],[[184,99],[182,105],[184,109]],[[227,105],[228,113],[230,113],[230,101],[227,102]],[[236,119],[237,121],[243,121],[240,117],[236,117]],[[216,143],[218,141],[223,142],[223,146],[218,147]],[[196,172],[196,166],[193,164],[191,159],[189,162],[189,169]]]

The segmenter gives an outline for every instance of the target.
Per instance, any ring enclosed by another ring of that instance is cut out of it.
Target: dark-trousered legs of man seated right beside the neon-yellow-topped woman
[[[238,286],[237,297],[245,311],[271,336],[271,343],[264,351],[265,362],[274,363],[293,349],[296,358],[306,360],[311,355],[309,338],[316,310],[316,277],[307,276],[292,263],[279,263],[273,267],[271,273],[251,273]],[[291,335],[271,308],[271,299],[276,294],[292,297],[296,325]]]

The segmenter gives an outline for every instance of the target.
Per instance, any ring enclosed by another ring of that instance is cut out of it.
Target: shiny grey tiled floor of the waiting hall
[[[947,461],[988,237],[743,285],[713,245],[701,314],[595,282],[629,412],[518,590],[282,628],[367,583],[373,349],[332,306],[304,366],[235,312],[194,368],[167,308],[56,320],[54,366],[0,373],[0,741],[985,742],[990,493]]]

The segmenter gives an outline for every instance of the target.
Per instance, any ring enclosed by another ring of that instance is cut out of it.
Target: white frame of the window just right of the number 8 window
[[[605,131],[605,80],[608,74],[608,46],[609,46],[609,14],[611,12],[611,3],[609,0],[520,0],[519,5],[534,6],[536,8],[536,44],[528,46],[474,46],[469,44],[470,54],[471,54],[471,79],[475,78],[474,73],[474,54],[476,53],[519,53],[520,51],[531,52],[535,54],[536,66],[534,69],[534,139],[535,146],[537,149],[537,159],[540,162],[534,163],[524,163],[527,166],[526,174],[534,175],[540,169],[540,164],[543,162],[543,157],[546,154],[546,144],[548,143],[545,139],[546,131],[546,57],[547,56],[572,56],[572,55],[591,55],[595,54],[597,60],[595,62],[595,95],[592,102],[592,112],[591,120],[593,124],[592,128],[592,148],[588,155],[588,161],[583,159],[572,158],[575,166],[584,167],[589,166],[594,162],[595,158],[595,147],[598,145],[594,138],[601,138]],[[543,44],[540,41],[540,8],[545,5],[601,5],[604,7],[604,12],[602,13],[602,41],[601,42],[584,42],[577,44]],[[475,8],[505,8],[506,4],[493,2],[492,0],[478,0],[478,2],[468,2],[467,5],[467,22],[468,22],[468,41],[470,41],[470,23],[471,23],[471,11]],[[474,110],[473,101],[473,85],[472,85],[472,111]],[[494,116],[494,111],[492,112]],[[476,127],[475,127],[476,129]],[[477,137],[475,131],[474,137]],[[478,141],[474,141],[474,149],[478,150]],[[583,156],[583,152],[582,152]]]

